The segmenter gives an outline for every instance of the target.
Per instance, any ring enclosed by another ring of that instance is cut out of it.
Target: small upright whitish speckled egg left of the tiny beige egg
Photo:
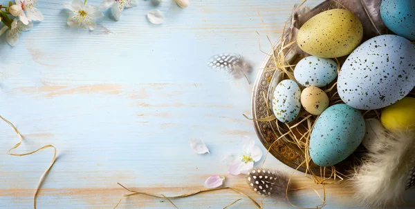
[[[283,123],[293,121],[301,109],[300,97],[301,90],[295,81],[282,80],[279,82],[273,95],[275,117]]]

